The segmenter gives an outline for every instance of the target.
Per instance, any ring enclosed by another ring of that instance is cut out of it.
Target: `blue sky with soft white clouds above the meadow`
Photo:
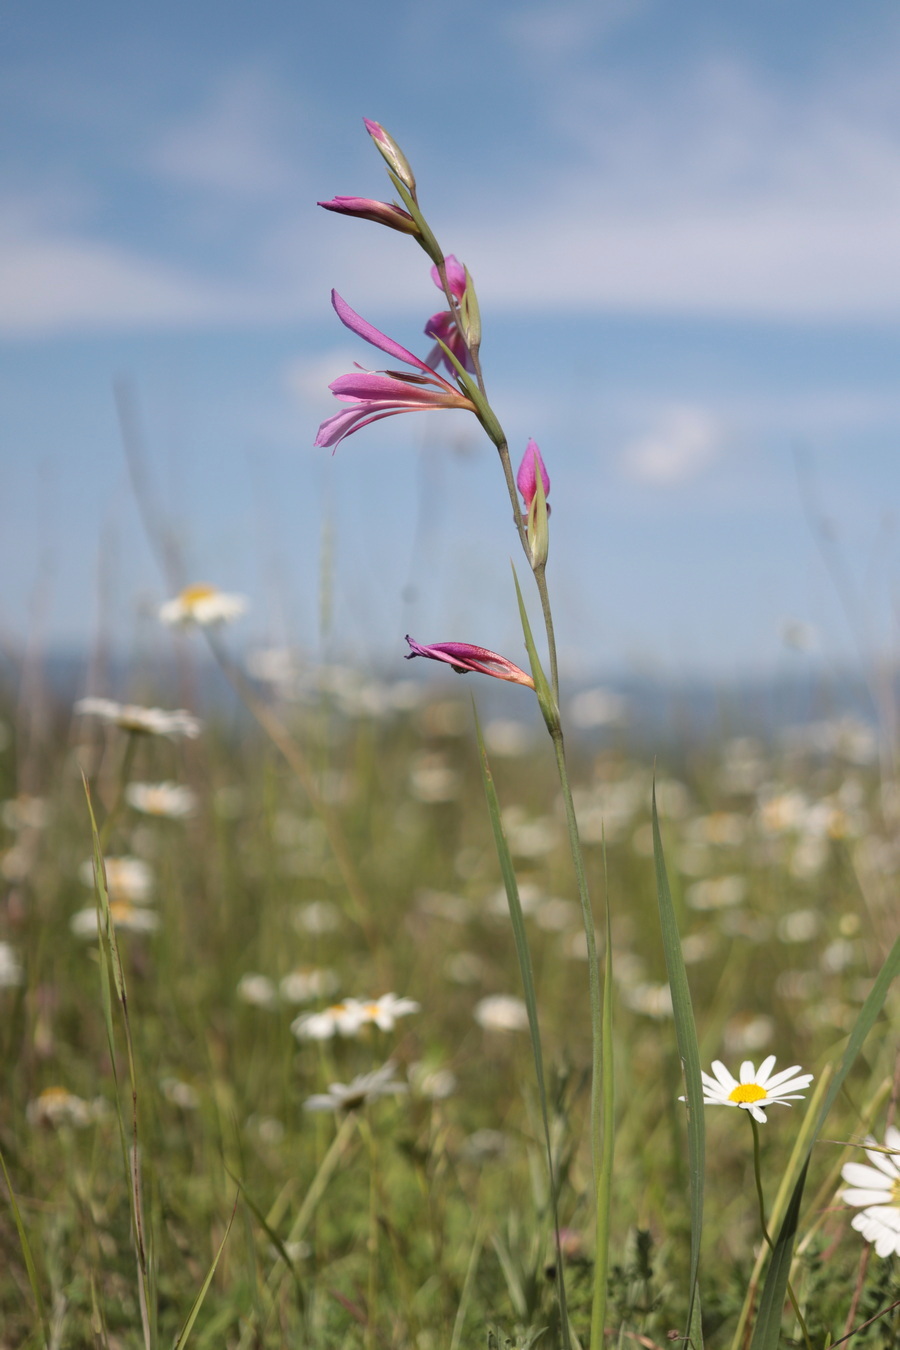
[[[521,652],[474,421],[312,448],[328,381],[381,363],[331,288],[422,354],[440,308],[413,243],[314,205],[390,194],[368,116],[475,278],[511,443],[544,451],[569,668],[791,668],[785,621],[854,655],[804,497],[889,649],[899,58],[896,5],[834,0],[7,14],[0,639],[154,637],[120,377],[185,579],[246,594],[248,641]]]

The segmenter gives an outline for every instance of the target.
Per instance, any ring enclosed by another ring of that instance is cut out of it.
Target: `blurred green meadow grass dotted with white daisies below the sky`
[[[522,983],[470,688],[478,697],[472,680],[460,697],[371,713],[335,688],[287,705],[328,825],[242,717],[213,720],[196,741],[136,742],[131,779],[190,786],[186,819],[125,803],[104,825],[125,752],[113,728],[69,728],[57,710],[39,744],[5,737],[0,941],[20,975],[0,987],[3,1350],[179,1335],[196,1347],[316,1350],[557,1343],[528,1023],[475,1017],[490,995],[521,999]],[[522,706],[524,693],[509,693],[510,709]],[[822,737],[765,747],[723,736],[671,747],[656,764],[702,1066],[722,1058],[737,1071],[775,1053],[776,1068],[816,1075],[806,1102],[773,1106],[761,1127],[770,1216],[816,1085],[837,1071],[896,936],[900,805],[865,738],[845,730],[824,748]],[[571,1326],[587,1345],[595,1189],[580,906],[549,742],[490,720],[484,734],[532,954]],[[576,738],[569,755],[600,953],[604,895],[613,934],[609,1343],[663,1346],[688,1315],[691,1197],[654,768],[627,732]],[[92,856],[82,772],[105,855],[143,859],[152,875],[155,930],[117,930],[136,1115],[115,984],[109,1022],[104,1013],[109,956],[70,926],[97,903],[80,875]],[[333,992],[289,1002],[281,981],[305,968],[331,972]],[[302,1013],[389,991],[420,1004],[393,1030],[291,1034]],[[842,1162],[860,1157],[850,1145],[882,1134],[896,1027],[889,994],[812,1150],[792,1285],[816,1347],[845,1334],[854,1291],[853,1326],[900,1297],[896,1260],[872,1253],[861,1265],[868,1249],[837,1200]],[[329,1083],[387,1060],[407,1094],[349,1114],[305,1110]],[[73,1095],[55,1119],[40,1096],[54,1087]],[[754,1265],[758,1289],[765,1280],[753,1141],[745,1112],[710,1106],[704,1122],[704,1341],[730,1347]],[[850,1345],[895,1346],[897,1328],[893,1312]],[[787,1312],[783,1343],[797,1336]]]

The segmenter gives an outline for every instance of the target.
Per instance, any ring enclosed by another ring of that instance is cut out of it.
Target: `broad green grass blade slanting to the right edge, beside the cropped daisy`
[[[850,1033],[850,1040],[847,1041],[847,1048],[843,1052],[841,1066],[838,1068],[824,1102],[822,1103],[800,1176],[797,1177],[793,1193],[791,1195],[791,1202],[775,1243],[775,1251],[772,1253],[772,1261],[769,1262],[765,1284],[762,1287],[762,1295],[760,1297],[760,1312],[753,1328],[750,1350],[777,1350],[779,1338],[781,1335],[781,1311],[784,1308],[788,1277],[791,1274],[793,1243],[800,1216],[800,1203],[803,1200],[803,1188],[806,1187],[812,1149],[822,1134],[828,1112],[838,1098],[838,1092],[843,1087],[843,1083],[853,1068],[869,1031],[874,1026],[876,1018],[884,1007],[888,990],[897,975],[900,975],[900,937],[891,948],[888,959],[878,971],[877,979],[869,991],[869,998],[860,1010],[860,1017],[857,1018],[853,1031]]]

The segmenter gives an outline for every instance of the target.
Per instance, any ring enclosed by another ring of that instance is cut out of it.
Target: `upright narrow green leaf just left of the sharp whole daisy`
[[[700,1235],[703,1233],[703,1176],[706,1168],[706,1126],[703,1119],[703,1080],[700,1077],[700,1048],[694,1022],[691,990],[688,986],[681,938],[672,903],[672,891],[665,871],[660,818],[656,810],[656,782],[653,783],[653,859],[656,863],[656,895],[660,906],[660,929],[665,968],[672,991],[675,1035],[684,1073],[688,1115],[688,1176],[691,1181],[691,1295],[685,1335],[696,1350],[703,1345],[699,1318]]]

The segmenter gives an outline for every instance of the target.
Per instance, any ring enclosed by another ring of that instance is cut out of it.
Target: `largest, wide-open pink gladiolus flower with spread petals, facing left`
[[[471,398],[460,394],[459,389],[455,389],[412,351],[401,347],[393,338],[387,338],[374,324],[362,319],[345,300],[341,300],[336,290],[332,290],[332,305],[345,328],[371,343],[372,347],[386,351],[389,356],[397,356],[407,366],[416,366],[421,374],[410,375],[401,370],[371,371],[360,367],[349,375],[340,375],[328,387],[336,398],[352,404],[352,408],[325,418],[318,428],[316,446],[337,448],[344,436],[349,436],[372,421],[381,421],[382,417],[394,417],[397,413],[429,412],[436,408],[463,408],[467,412],[475,412],[475,404]]]

